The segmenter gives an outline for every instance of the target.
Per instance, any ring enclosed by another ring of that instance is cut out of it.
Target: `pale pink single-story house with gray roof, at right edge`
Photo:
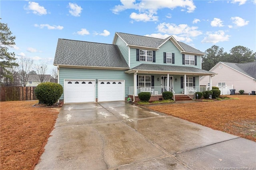
[[[223,95],[230,94],[230,89],[235,93],[244,90],[244,93],[256,91],[256,61],[248,63],[219,62],[210,71],[216,73],[212,77],[212,85],[217,86]],[[200,86],[208,86],[209,77],[200,78]]]

